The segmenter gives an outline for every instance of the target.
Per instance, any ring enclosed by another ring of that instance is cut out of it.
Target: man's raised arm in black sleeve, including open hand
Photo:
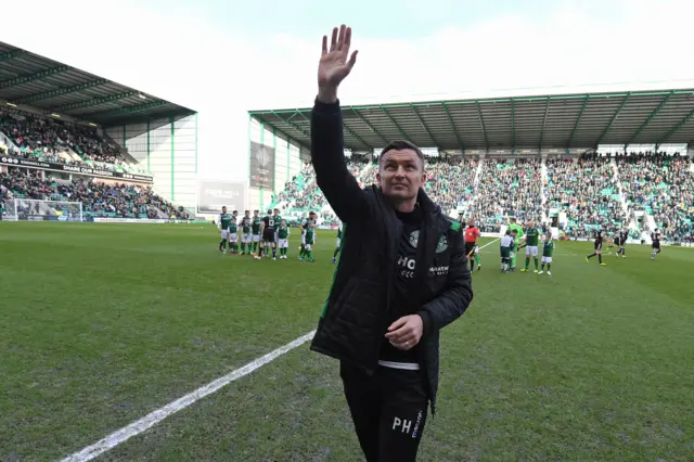
[[[343,221],[351,221],[364,204],[365,194],[345,163],[343,115],[337,88],[357,62],[357,52],[349,56],[351,28],[342,25],[333,29],[330,50],[323,36],[318,66],[318,98],[311,114],[311,162],[316,183]],[[347,57],[349,56],[349,60]]]

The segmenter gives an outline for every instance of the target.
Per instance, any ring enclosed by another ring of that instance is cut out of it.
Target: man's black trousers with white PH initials
[[[382,367],[370,376],[340,362],[339,374],[367,461],[415,461],[428,406],[422,373]]]

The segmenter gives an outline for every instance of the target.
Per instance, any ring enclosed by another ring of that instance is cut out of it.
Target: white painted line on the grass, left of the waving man
[[[210,382],[201,388],[197,388],[195,392],[189,393],[182,398],[179,398],[176,401],[169,402],[165,407],[157,409],[156,411],[149,413],[147,415],[140,419],[139,421],[132,422],[130,425],[125,426],[112,433],[111,435],[94,442],[93,445],[86,447],[81,451],[75,452],[74,454],[66,457],[61,462],[87,462],[94,459],[98,455],[103,454],[106,451],[110,451],[111,449],[115,448],[121,442],[125,442],[128,439],[132,438],[133,436],[139,435],[142,432],[146,431],[147,428],[151,428],[152,426],[156,425],[157,423],[162,422],[164,419],[168,418],[169,415],[175,414],[176,412],[188,408],[189,406],[193,405],[195,401],[198,401],[200,399],[206,397],[207,395],[210,395],[219,390],[220,388],[229,385],[233,381],[236,381],[243,377],[244,375],[248,375],[249,373],[257,370],[258,368],[267,364],[268,362],[279,358],[282,355],[287,354],[294,348],[305,344],[306,342],[313,338],[314,334],[316,334],[316,331],[312,331],[301,337],[298,337],[293,342],[290,342],[288,344],[275,349],[274,351],[271,351],[266,356],[247,363],[243,368],[236,369],[235,371],[224,376],[221,376],[216,381]]]

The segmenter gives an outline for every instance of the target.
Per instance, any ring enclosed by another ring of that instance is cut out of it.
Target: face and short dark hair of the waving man
[[[383,155],[376,180],[386,196],[408,200],[416,197],[426,181],[426,175],[414,151],[391,150]]]

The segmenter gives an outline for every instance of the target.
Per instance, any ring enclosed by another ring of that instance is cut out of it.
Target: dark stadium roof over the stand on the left
[[[0,99],[104,127],[195,112],[0,42]]]

